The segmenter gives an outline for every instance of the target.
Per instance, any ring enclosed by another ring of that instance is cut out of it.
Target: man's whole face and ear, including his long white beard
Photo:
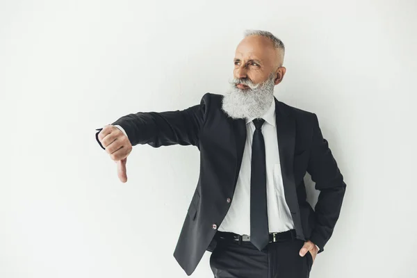
[[[236,48],[234,80],[222,110],[234,119],[262,117],[274,104],[274,87],[285,74],[277,49],[268,38],[248,36]]]

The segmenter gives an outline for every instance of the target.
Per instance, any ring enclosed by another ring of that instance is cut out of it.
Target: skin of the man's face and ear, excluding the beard
[[[268,38],[250,35],[236,47],[233,72],[235,79],[246,79],[258,84],[266,81],[270,74],[274,74],[274,83],[277,85],[285,72],[285,67],[279,67],[279,52]],[[247,88],[239,83],[236,87]]]

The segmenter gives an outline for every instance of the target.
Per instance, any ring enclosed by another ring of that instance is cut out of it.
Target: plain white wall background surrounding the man
[[[1,0],[0,277],[187,277],[172,254],[198,149],[137,145],[121,183],[95,129],[223,94],[247,28],[284,41],[275,96],[318,115],[347,183],[311,277],[417,277],[416,13],[414,0]],[[193,277],[213,277],[210,254]]]

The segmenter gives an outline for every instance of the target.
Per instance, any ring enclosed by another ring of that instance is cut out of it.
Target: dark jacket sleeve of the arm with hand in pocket
[[[327,140],[322,136],[318,117],[316,114],[313,115],[313,138],[307,172],[311,174],[311,179],[316,183],[316,189],[320,190],[320,193],[314,209],[316,225],[309,239],[318,245],[320,253],[324,251],[327,240],[332,236],[341,212],[346,183]]]

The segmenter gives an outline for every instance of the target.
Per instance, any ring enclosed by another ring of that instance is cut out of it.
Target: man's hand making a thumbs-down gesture
[[[99,133],[99,141],[110,154],[111,159],[117,163],[117,176],[120,181],[127,181],[126,161],[127,156],[132,151],[132,145],[129,138],[124,133],[111,124],[104,126]]]

